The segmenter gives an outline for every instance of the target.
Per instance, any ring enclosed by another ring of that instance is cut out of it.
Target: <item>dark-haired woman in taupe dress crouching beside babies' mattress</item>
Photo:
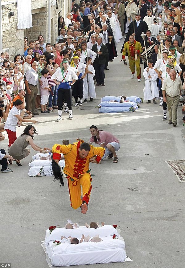
[[[35,151],[46,152],[33,142],[35,134],[38,134],[37,130],[33,126],[28,125],[24,129],[23,134],[8,148],[8,153],[13,156],[18,166],[22,166],[20,160],[29,155],[30,149],[26,148],[29,144]]]

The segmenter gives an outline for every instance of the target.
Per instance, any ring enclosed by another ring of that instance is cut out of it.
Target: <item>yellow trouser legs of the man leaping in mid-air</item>
[[[80,176],[78,181],[72,181],[71,178],[68,179],[68,189],[71,201],[71,206],[73,209],[77,209],[82,205],[82,201],[87,204],[90,199],[91,194],[91,176],[89,173],[84,173]],[[82,186],[82,199],[81,199],[81,186]]]

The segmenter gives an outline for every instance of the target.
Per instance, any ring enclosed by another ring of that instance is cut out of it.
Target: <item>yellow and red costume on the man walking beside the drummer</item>
[[[138,60],[135,61],[135,50],[137,50]],[[130,41],[126,42],[122,51],[122,59],[125,60],[126,53],[128,54],[129,59],[129,68],[132,74],[135,73],[135,65],[136,65],[136,73],[137,78],[141,78],[141,68],[140,68],[140,57],[139,54],[142,54],[142,46],[141,44],[134,40],[134,44],[131,44]]]

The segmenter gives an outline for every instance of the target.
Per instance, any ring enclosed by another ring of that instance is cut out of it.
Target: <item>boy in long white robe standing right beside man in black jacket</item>
[[[89,101],[93,101],[93,98],[96,99],[96,90],[94,86],[93,76],[95,75],[94,67],[91,65],[92,59],[87,57],[87,67],[88,67],[88,83],[87,83],[87,74],[84,78],[84,86],[83,86],[83,98],[84,103],[87,103],[88,96],[90,97]]]

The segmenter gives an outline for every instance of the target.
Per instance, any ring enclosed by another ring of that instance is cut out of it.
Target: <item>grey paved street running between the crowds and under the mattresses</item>
[[[96,87],[97,99],[73,109],[73,120],[63,115],[56,122],[57,111],[35,116],[39,135],[35,143],[51,148],[63,139],[71,143],[80,137],[88,141],[89,127],[113,133],[120,140],[119,162],[105,159],[100,165],[90,164],[95,175],[89,210],[70,207],[67,182],[59,187],[53,177],[29,177],[28,163],[35,154],[15,163],[13,173],[0,173],[1,245],[0,263],[12,268],[47,268],[41,247],[45,231],[51,225],[64,227],[67,219],[84,225],[91,221],[117,224],[125,239],[126,253],[132,262],[94,264],[84,268],[184,268],[184,187],[165,161],[184,159],[185,128],[182,109],[178,109],[178,126],[162,121],[157,105],[146,104],[133,113],[99,113],[95,108],[105,95],[143,96],[144,79],[130,79],[129,66],[124,66],[119,53],[109,63],[105,87]],[[142,65],[143,69],[143,65]],[[23,127],[17,129],[17,136]],[[5,132],[4,132],[5,133]],[[6,134],[6,133],[5,133]],[[1,142],[7,148],[8,140]],[[85,254],[85,253],[84,253]],[[75,267],[75,266],[72,266]]]

